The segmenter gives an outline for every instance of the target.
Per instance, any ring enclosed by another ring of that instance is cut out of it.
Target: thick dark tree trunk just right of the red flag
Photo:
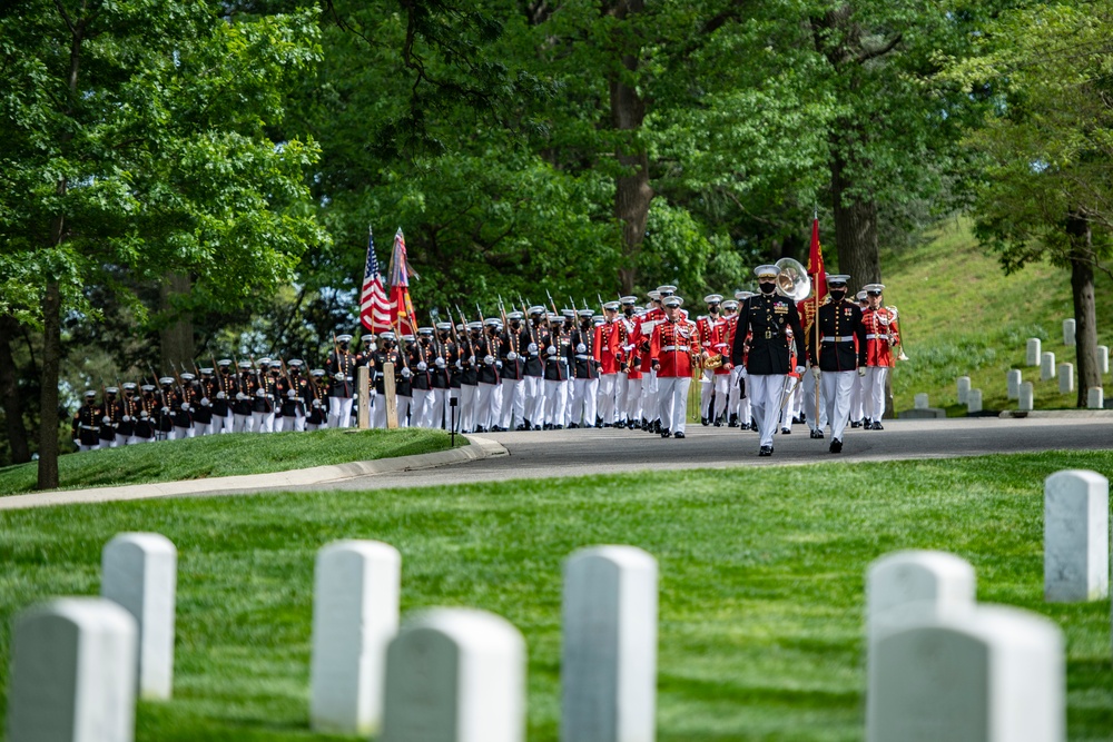
[[[835,138],[831,144],[831,197],[838,269],[850,276],[847,293],[854,295],[866,284],[879,284],[881,280],[877,202],[848,192],[854,187],[846,175],[850,146],[841,138]]]

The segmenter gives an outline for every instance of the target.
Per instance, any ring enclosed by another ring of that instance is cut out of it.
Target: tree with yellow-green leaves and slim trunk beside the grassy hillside
[[[973,43],[939,79],[992,103],[966,138],[984,165],[976,234],[1006,273],[1037,260],[1071,269],[1082,407],[1102,386],[1094,270],[1113,231],[1113,2],[1006,12]]]

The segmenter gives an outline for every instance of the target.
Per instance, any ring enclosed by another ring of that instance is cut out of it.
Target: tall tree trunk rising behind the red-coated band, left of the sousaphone
[[[619,20],[644,10],[642,0],[619,2],[614,16]],[[615,36],[619,44],[628,42],[624,36]],[[637,50],[622,55],[622,67],[629,71],[638,69]],[[629,131],[626,145],[615,152],[619,164],[627,174],[614,182],[614,217],[622,222],[622,258],[619,264],[619,283],[623,294],[633,293],[638,281],[638,254],[646,239],[646,222],[653,200],[653,188],[649,185],[649,156],[644,144],[638,141],[637,132],[646,119],[646,102],[638,91],[627,85],[617,73],[610,79],[611,126],[615,131]]]

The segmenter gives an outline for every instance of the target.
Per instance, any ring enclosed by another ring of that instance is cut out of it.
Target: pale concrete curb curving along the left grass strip
[[[0,511],[83,503],[115,503],[130,499],[181,497],[187,495],[237,495],[277,487],[328,484],[357,476],[414,472],[510,455],[510,452],[502,444],[491,438],[476,435],[465,435],[464,437],[467,438],[470,445],[447,451],[437,451],[432,454],[380,458],[371,462],[332,464],[328,466],[294,469],[292,472],[273,472],[270,474],[242,474],[209,479],[151,482],[148,484],[129,484],[121,487],[92,487],[89,489],[62,489],[27,495],[9,495],[8,497],[0,497]]]

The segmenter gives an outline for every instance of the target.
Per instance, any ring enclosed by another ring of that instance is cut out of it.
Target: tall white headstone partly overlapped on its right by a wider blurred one
[[[377,541],[339,541],[317,552],[315,573],[309,720],[317,731],[367,736],[383,720],[402,556]]]

